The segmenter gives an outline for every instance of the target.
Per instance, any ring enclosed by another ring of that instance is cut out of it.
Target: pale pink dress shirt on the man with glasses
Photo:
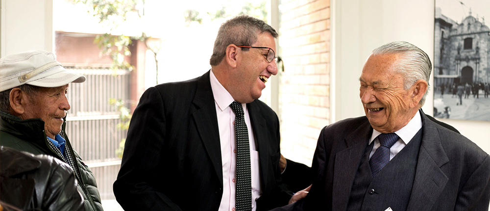
[[[220,130],[221,162],[223,164],[223,196],[219,211],[235,211],[236,191],[236,138],[235,138],[235,113],[230,108],[233,103],[231,94],[216,79],[213,71],[209,73],[211,89],[215,99],[216,114],[218,116],[218,127]],[[255,146],[255,137],[250,124],[250,117],[246,104],[242,104],[245,114],[245,124],[248,129],[248,140],[250,141],[250,168],[252,176],[252,211],[256,210],[256,200],[261,196],[259,152]]]

